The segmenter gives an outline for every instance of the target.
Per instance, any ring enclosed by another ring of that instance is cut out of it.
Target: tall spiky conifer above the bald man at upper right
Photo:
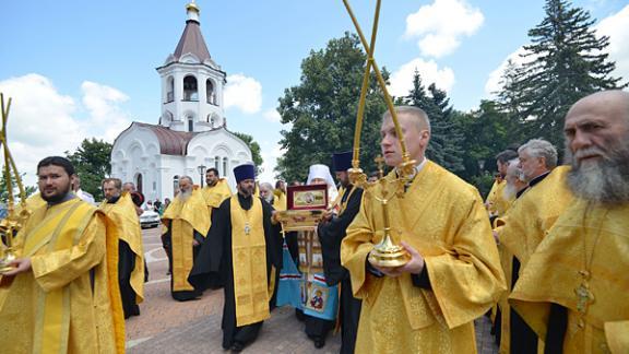
[[[529,31],[526,62],[512,73],[508,96],[529,138],[543,137],[562,146],[562,119],[569,107],[591,93],[624,87],[610,75],[606,36],[597,37],[590,13],[566,0],[547,0],[546,16]]]

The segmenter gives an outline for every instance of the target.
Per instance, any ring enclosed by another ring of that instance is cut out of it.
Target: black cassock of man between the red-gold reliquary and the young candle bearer
[[[349,196],[352,194],[352,196]],[[341,320],[341,353],[354,353],[358,320],[360,318],[360,300],[352,293],[349,272],[341,266],[341,241],[346,235],[347,226],[360,210],[363,189],[352,192],[347,188],[341,199],[347,203],[345,210],[327,223],[319,224],[319,241],[323,256],[323,272],[329,286],[341,284],[340,320]]]

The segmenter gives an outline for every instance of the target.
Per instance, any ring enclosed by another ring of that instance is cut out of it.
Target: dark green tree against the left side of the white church
[[[111,173],[111,144],[95,138],[84,139],[74,153],[67,151],[66,156],[81,177],[81,189],[98,200],[100,182]]]

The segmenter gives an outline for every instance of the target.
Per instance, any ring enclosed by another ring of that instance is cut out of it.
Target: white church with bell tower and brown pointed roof
[[[156,69],[162,79],[158,123],[132,122],[111,150],[111,176],[134,182],[147,200],[173,199],[179,176],[200,185],[203,167],[217,168],[234,190],[233,168],[252,161],[247,144],[226,129],[226,73],[210,56],[199,8],[192,1],[186,9],[179,44]]]

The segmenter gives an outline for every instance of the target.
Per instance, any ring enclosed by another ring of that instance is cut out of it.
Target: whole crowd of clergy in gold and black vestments
[[[476,353],[483,316],[500,353],[629,353],[629,93],[575,102],[561,160],[535,137],[499,153],[486,200],[426,158],[425,111],[395,111],[415,164],[405,184],[387,111],[390,172],[355,186],[351,152],[332,154],[335,179],[329,162],[313,162],[306,185],[325,185],[328,205],[308,231],[284,229],[292,189],[259,184],[252,164],[234,168],[236,191],[214,168],[204,188],[180,177],[162,216],[173,298],[222,288],[222,345],[233,352],[292,306],[316,349],[340,332],[341,353]],[[39,192],[20,206],[17,258],[0,275],[0,352],[123,353],[124,319],[140,315],[147,280],[143,197],[107,178],[104,201],[85,201],[59,156],[37,176]],[[371,261],[384,228],[404,266]]]

